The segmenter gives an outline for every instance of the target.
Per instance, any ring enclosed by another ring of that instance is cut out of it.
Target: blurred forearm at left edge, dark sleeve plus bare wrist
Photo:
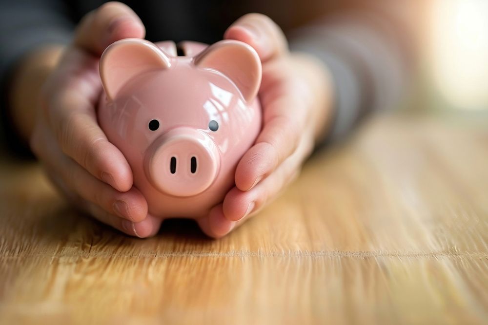
[[[25,151],[41,84],[74,24],[61,0],[0,0],[0,144]]]

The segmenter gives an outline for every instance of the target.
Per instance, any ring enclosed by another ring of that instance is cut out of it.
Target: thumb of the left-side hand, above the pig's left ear
[[[105,48],[122,38],[144,38],[141,19],[121,2],[107,2],[81,19],[74,45],[100,56]]]

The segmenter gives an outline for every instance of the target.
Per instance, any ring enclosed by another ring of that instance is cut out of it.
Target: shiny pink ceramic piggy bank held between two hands
[[[185,56],[158,44],[127,38],[104,51],[98,120],[149,213],[199,218],[234,186],[260,132],[261,61],[239,41],[186,42]]]

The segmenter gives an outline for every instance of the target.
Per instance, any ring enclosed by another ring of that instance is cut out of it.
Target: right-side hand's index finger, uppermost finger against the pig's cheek
[[[241,191],[249,191],[273,172],[307,133],[305,109],[291,96],[278,96],[264,109],[264,127],[239,161],[235,182]]]

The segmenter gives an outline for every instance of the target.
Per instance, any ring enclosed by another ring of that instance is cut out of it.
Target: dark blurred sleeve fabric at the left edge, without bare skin
[[[74,30],[69,8],[61,0],[0,0],[0,143],[16,148],[18,137],[9,123],[9,79],[20,58],[45,44],[67,44]]]

